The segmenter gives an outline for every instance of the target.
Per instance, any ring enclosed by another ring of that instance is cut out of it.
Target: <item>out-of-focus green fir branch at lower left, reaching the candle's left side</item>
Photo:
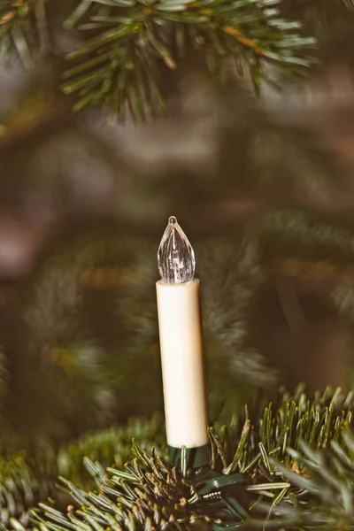
[[[4,427],[4,426],[2,426]],[[49,445],[32,452],[9,454],[3,448],[0,460],[0,529],[29,525],[28,510],[47,496],[64,507],[69,498],[56,488],[58,474],[70,477],[81,487],[91,489],[95,481],[85,473],[84,463],[99,460],[102,466],[121,467],[131,457],[132,438],[142,441],[142,449],[154,444],[165,449],[163,419],[130,419],[127,426],[110,427],[53,450]]]

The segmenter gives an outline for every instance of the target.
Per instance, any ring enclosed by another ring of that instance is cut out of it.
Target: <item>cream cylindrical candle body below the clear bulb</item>
[[[169,446],[208,443],[199,281],[157,282],[158,327]]]

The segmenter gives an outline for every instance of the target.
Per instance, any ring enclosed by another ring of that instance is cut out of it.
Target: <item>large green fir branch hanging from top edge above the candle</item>
[[[78,64],[65,73],[65,93],[78,93],[76,110],[101,104],[115,113],[128,108],[134,119],[147,119],[164,108],[160,64],[177,66],[187,44],[202,50],[211,72],[225,78],[226,59],[250,70],[256,90],[266,77],[266,63],[298,73],[312,64],[302,51],[314,45],[300,27],[281,19],[278,0],[210,0],[155,3],[100,0],[89,24],[96,33],[69,54]],[[102,4],[106,5],[101,14]],[[83,4],[86,11],[86,4]],[[88,59],[86,59],[88,58]]]

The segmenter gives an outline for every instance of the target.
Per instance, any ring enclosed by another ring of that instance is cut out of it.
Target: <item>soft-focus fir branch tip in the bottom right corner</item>
[[[299,442],[300,451],[289,449],[296,468],[289,469],[271,459],[275,473],[289,481],[289,487],[274,497],[271,505],[261,503],[260,512],[266,513],[266,520],[272,515],[272,524],[281,527],[302,529],[352,529],[354,527],[353,448],[354,436],[344,430],[342,441],[330,442],[328,450],[313,450],[308,444]],[[290,488],[291,486],[291,488]],[[290,489],[296,489],[300,503],[294,503]],[[265,525],[264,519],[254,519],[253,525]]]

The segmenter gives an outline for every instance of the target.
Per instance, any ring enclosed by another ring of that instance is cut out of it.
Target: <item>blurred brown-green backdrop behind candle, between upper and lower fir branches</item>
[[[319,40],[305,81],[258,97],[191,54],[165,79],[164,115],[136,125],[73,113],[61,93],[78,39],[64,4],[40,59],[11,51],[0,67],[0,445],[162,411],[156,253],[171,214],[196,251],[212,417],[280,385],[350,387],[354,13],[284,2]]]

